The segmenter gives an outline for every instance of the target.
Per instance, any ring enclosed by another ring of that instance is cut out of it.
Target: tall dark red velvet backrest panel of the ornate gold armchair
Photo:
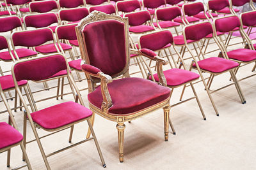
[[[127,62],[124,29],[124,24],[116,20],[94,22],[84,27],[83,41],[86,43],[90,65],[110,76],[124,69]]]

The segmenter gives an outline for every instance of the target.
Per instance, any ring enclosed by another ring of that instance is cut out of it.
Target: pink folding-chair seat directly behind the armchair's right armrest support
[[[168,69],[163,71],[168,86],[179,86],[189,81],[193,81],[199,78],[199,74],[184,69]],[[152,80],[152,77],[149,77]],[[154,74],[155,80],[158,82],[159,78],[157,74]]]

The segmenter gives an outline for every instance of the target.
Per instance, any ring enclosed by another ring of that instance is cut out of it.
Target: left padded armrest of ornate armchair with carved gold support
[[[110,108],[113,104],[111,96],[108,91],[108,83],[111,83],[113,81],[111,76],[102,73],[102,71],[100,71],[99,68],[94,67],[90,64],[83,64],[81,67],[84,73],[89,74],[90,76],[94,76],[96,78],[100,78],[100,89],[103,98],[101,110],[108,110],[108,108]]]

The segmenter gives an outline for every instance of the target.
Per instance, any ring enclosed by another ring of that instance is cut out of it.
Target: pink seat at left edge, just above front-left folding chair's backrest
[[[31,57],[33,55],[37,55],[37,52],[33,51],[33,50],[29,50],[28,48],[19,48],[16,49],[16,52],[19,56],[20,59],[24,58],[24,57]],[[13,50],[12,50],[12,54],[13,57],[16,59]],[[12,57],[10,55],[10,53],[8,51],[6,52],[0,52],[0,59],[1,60],[12,60]]]

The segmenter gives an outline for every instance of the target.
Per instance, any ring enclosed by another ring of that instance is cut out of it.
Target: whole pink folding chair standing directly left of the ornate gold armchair
[[[55,74],[60,73],[61,71],[64,71],[65,73],[67,73],[67,78],[70,81],[70,86],[72,86],[76,90],[76,97],[75,97],[76,102],[67,101],[65,103],[56,104],[54,106],[50,106],[42,110],[30,112],[28,109],[28,105],[26,104],[26,101],[24,100],[19,90],[17,81],[20,81],[20,80],[44,81],[51,78]],[[26,124],[27,124],[27,118],[28,118],[36,138],[35,140],[32,140],[32,141],[37,142],[47,169],[51,169],[51,167],[49,166],[49,162],[47,160],[48,157],[51,157],[56,153],[67,150],[68,148],[72,148],[86,141],[90,141],[91,139],[93,139],[95,142],[102,165],[106,167],[106,164],[102,157],[102,153],[100,151],[99,143],[97,141],[95,133],[93,132],[92,125],[90,121],[88,121],[90,118],[92,118],[92,111],[88,110],[88,108],[84,106],[83,99],[79,94],[79,90],[77,89],[76,84],[72,76],[70,75],[70,70],[68,68],[67,60],[63,55],[60,55],[60,54],[46,55],[43,57],[36,57],[29,60],[22,60],[19,62],[15,62],[15,64],[12,67],[12,75],[13,75],[13,80],[15,82],[15,89],[17,90],[19,97],[22,101],[22,104],[24,104],[24,107],[25,107],[24,129],[23,129],[24,146],[26,146],[27,143],[31,142],[31,141],[26,141],[26,135],[27,135]],[[78,100],[80,104],[77,103]],[[40,127],[40,129],[47,132],[52,132],[52,134],[55,134],[56,132],[60,132],[70,128],[70,136],[68,141],[71,143],[74,125],[79,122],[83,122],[85,120],[87,120],[89,129],[92,132],[92,136],[93,136],[92,138],[84,139],[83,141],[80,141],[73,145],[69,145],[65,148],[62,148],[61,150],[57,150],[56,152],[52,152],[47,155],[45,154],[45,151],[40,139],[46,136],[49,136],[50,134],[39,137],[38,132],[36,131],[36,127]]]

